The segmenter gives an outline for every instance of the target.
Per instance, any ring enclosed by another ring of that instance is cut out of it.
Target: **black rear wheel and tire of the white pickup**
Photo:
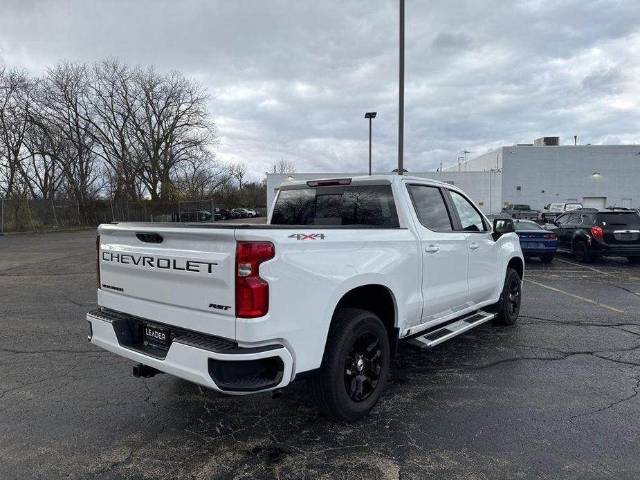
[[[389,337],[380,318],[340,308],[329,329],[311,396],[324,414],[343,421],[362,418],[376,405],[389,372]]]

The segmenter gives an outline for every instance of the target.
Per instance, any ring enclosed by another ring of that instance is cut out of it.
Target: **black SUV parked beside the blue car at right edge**
[[[627,257],[640,264],[640,214],[632,210],[573,210],[548,229],[558,237],[558,250],[573,252],[585,264],[594,257]]]

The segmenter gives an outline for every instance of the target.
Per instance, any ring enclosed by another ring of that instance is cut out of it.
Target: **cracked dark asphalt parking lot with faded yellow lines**
[[[640,266],[527,262],[520,320],[402,347],[362,421],[86,341],[95,232],[0,237],[0,478],[638,478]]]

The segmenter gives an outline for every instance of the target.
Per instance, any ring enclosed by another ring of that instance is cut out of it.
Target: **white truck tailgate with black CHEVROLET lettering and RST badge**
[[[235,230],[100,225],[100,306],[235,338]]]

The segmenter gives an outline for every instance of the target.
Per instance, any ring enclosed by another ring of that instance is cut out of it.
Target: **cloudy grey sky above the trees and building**
[[[206,84],[219,158],[260,178],[396,164],[396,0],[0,0],[0,64],[177,69]],[[490,7],[491,5],[491,7]],[[560,136],[640,143],[638,0],[406,0],[405,167]],[[471,156],[473,156],[472,154]]]

